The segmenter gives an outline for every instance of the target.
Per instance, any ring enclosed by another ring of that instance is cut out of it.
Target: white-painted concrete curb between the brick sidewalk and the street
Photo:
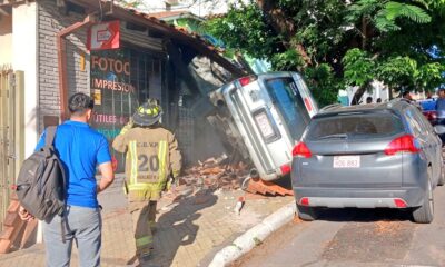
[[[266,217],[260,224],[254,226],[235,241],[219,250],[209,267],[228,266],[246,253],[250,251],[255,246],[263,243],[266,237],[276,231],[281,226],[291,221],[296,212],[295,201],[284,206],[274,214]]]

